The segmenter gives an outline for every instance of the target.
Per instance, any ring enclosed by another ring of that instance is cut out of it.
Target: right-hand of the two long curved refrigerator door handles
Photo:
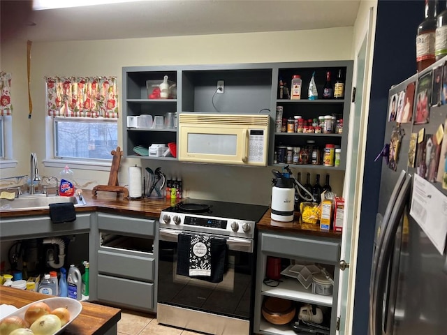
[[[374,293],[374,305],[372,306],[374,312],[373,324],[371,325],[373,332],[371,335],[381,335],[386,329],[383,329],[383,295],[385,294],[387,285],[388,265],[390,258],[393,255],[393,245],[395,241],[395,235],[397,228],[400,225],[400,219],[404,213],[406,202],[409,200],[411,186],[411,176],[407,177],[404,185],[402,186],[393,211],[390,214],[388,221],[388,229],[383,234],[383,245],[379,249],[379,262],[376,264],[376,274],[374,277],[373,288]]]

